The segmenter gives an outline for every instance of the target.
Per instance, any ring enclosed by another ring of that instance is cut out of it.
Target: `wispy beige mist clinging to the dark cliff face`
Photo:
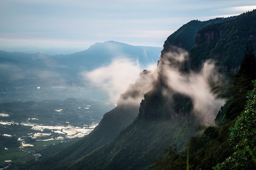
[[[168,88],[189,96],[193,101],[193,112],[203,121],[211,121],[225,100],[218,99],[211,92],[211,85],[221,83],[221,75],[216,70],[214,62],[204,62],[200,72],[180,71],[180,66],[188,59],[188,53],[180,48],[162,54],[158,67],[159,74],[165,77]]]

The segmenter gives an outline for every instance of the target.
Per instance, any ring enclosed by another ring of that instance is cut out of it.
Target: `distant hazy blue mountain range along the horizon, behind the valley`
[[[143,68],[157,62],[161,49],[161,47],[132,46],[115,41],[107,41],[96,43],[85,51],[68,55],[51,56],[39,52],[26,54],[0,51],[1,72],[7,73],[7,77],[17,77],[16,72],[12,72],[15,68],[14,70],[19,70],[19,73],[24,74],[25,77],[27,75],[27,77],[34,78],[40,77],[40,72],[49,70],[53,74],[60,74],[61,77],[65,77],[67,74],[69,75],[68,77],[75,77],[82,71],[90,71],[98,67],[107,66],[113,60],[119,58],[138,60]],[[7,60],[9,60],[8,65],[3,65]],[[19,67],[22,67],[22,69],[19,69]]]

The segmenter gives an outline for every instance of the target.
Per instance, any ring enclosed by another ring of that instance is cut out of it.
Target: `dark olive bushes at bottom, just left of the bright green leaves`
[[[209,126],[202,135],[189,139],[187,152],[177,152],[157,159],[156,169],[211,169],[224,160],[233,151],[228,145],[228,128],[232,123],[224,126]],[[172,147],[172,146],[171,146]],[[188,156],[188,159],[187,159]],[[189,160],[189,164],[186,163]]]

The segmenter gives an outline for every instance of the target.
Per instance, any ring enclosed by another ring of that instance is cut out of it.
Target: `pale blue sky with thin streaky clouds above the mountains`
[[[0,0],[0,50],[86,50],[109,40],[162,47],[191,20],[252,9],[255,0]]]

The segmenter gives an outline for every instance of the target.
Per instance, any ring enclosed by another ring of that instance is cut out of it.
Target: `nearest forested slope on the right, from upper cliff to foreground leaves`
[[[155,166],[156,169],[180,169],[179,166],[189,166],[190,169],[211,169],[212,167],[215,167],[215,169],[255,169],[254,155],[256,152],[255,148],[253,148],[254,143],[249,146],[245,142],[245,145],[243,145],[243,140],[253,141],[248,135],[252,135],[254,131],[252,129],[255,126],[255,117],[252,118],[255,110],[250,109],[254,107],[252,103],[255,102],[255,98],[252,94],[255,93],[255,89],[249,93],[249,96],[246,94],[248,90],[253,89],[252,80],[256,79],[256,58],[253,50],[256,43],[254,38],[256,33],[254,30],[255,15],[256,10],[246,12],[230,23],[208,25],[198,32],[199,36],[196,41],[201,43],[198,43],[197,46],[189,51],[191,52],[190,61],[193,61],[196,55],[200,55],[200,52],[205,52],[210,54],[212,58],[215,56],[214,59],[222,71],[228,73],[229,69],[235,72],[234,76],[229,77],[229,83],[218,91],[221,97],[227,99],[227,102],[220,108],[215,119],[215,125],[207,127],[202,135],[190,138],[185,152],[173,152],[173,148],[169,148],[167,154],[158,159]],[[246,23],[246,26],[244,23]],[[223,29],[227,26],[229,31]],[[212,31],[220,30],[220,28],[223,29],[223,32],[226,32],[224,38],[222,37],[223,34],[219,34],[219,36],[217,34],[216,36]],[[241,28],[239,35],[235,34],[237,32],[231,31],[237,30],[237,28]],[[210,32],[213,33],[210,35],[212,36],[209,37],[209,32],[205,30],[211,30]],[[203,36],[202,34],[200,35],[202,32],[204,32]],[[200,39],[200,37],[203,38]],[[225,46],[219,46],[220,42]],[[245,45],[246,43],[247,45]],[[232,46],[233,48],[231,48]],[[217,51],[217,48],[220,48],[220,51]],[[208,50],[204,51],[203,49]],[[231,53],[232,57],[229,57]],[[201,56],[205,57],[203,54]],[[208,57],[206,55],[204,59]],[[201,60],[199,61],[202,62]],[[198,66],[200,62],[195,63]],[[237,66],[238,62],[241,64],[240,68],[240,64]],[[192,67],[195,67],[195,65],[193,66],[192,64]],[[228,78],[228,76],[226,77]],[[246,100],[248,100],[247,105],[251,105],[245,107],[244,111]],[[240,114],[241,116],[237,119]],[[247,115],[246,117],[244,116],[245,114]],[[248,121],[248,119],[250,120]],[[231,131],[229,128],[231,128]],[[242,129],[243,132],[241,132]],[[244,136],[247,133],[245,131],[248,131],[247,136]],[[188,164],[187,161],[189,162]],[[217,164],[218,166],[216,166]]]

